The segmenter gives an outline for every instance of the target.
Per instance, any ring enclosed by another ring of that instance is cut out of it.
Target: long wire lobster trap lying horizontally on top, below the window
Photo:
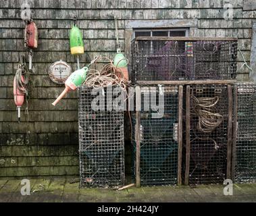
[[[131,51],[134,83],[236,78],[236,38],[137,37]]]

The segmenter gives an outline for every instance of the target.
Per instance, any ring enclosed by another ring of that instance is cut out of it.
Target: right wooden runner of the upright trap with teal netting
[[[182,184],[182,113],[183,113],[183,86],[179,86],[178,94],[178,185]]]

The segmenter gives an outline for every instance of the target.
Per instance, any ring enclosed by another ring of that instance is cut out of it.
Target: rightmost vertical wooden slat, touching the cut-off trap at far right
[[[237,98],[237,86],[234,86],[234,111],[233,111],[233,140],[232,140],[232,167],[231,167],[231,179],[234,182],[235,178],[235,169],[236,169],[236,139],[237,139],[237,105],[238,105],[238,98]]]

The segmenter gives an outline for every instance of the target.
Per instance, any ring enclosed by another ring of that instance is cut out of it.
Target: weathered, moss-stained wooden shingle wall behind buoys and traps
[[[230,1],[234,7],[234,26],[232,20],[223,18],[225,0],[28,1],[39,28],[39,48],[33,57],[36,74],[32,76],[30,122],[26,124],[22,112],[22,122],[18,124],[12,82],[18,56],[24,53],[21,2],[0,1],[0,176],[78,174],[76,92],[53,107],[51,102],[63,86],[51,82],[47,75],[49,65],[59,59],[76,68],[68,41],[75,15],[81,19],[78,26],[84,34],[86,53],[80,57],[82,63],[99,54],[113,56],[116,49],[113,16],[119,18],[122,49],[127,20],[197,19],[198,27],[190,28],[190,36],[233,36],[234,31],[239,38],[238,47],[245,59],[250,60],[251,27],[256,11],[243,11],[242,0]],[[246,69],[238,76],[239,80],[248,78]]]

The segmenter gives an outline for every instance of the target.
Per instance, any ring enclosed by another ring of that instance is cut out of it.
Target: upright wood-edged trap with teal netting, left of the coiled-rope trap
[[[182,115],[179,115],[179,105],[182,107],[182,86],[136,87],[132,143],[137,186],[181,183],[182,134],[178,129]]]

